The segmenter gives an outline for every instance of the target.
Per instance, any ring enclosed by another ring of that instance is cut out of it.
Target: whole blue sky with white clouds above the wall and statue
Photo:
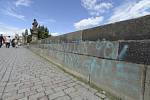
[[[22,34],[33,19],[53,36],[150,14],[150,0],[0,0],[0,34]]]

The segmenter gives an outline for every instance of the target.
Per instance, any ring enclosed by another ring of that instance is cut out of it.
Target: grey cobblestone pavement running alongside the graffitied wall
[[[0,48],[0,100],[108,100],[25,48]]]

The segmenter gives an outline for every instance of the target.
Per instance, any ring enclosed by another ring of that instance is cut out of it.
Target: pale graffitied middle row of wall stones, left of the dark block
[[[81,43],[58,43],[58,44],[41,44],[40,48],[66,53],[76,53],[81,55],[90,55],[102,58],[117,59],[118,42],[111,41],[87,41]]]

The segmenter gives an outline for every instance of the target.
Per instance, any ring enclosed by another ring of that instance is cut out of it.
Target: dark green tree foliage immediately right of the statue
[[[49,30],[47,27],[39,26],[38,27],[38,39],[48,38]]]

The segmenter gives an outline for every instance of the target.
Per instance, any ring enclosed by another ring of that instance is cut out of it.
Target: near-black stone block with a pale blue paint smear
[[[137,63],[150,64],[150,41],[134,41],[134,42],[120,42],[119,43],[119,59]]]

